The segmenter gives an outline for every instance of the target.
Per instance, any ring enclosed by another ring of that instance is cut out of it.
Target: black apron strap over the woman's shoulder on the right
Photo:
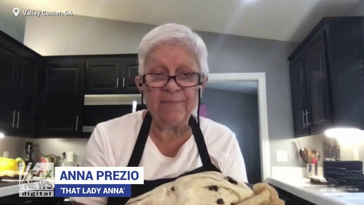
[[[199,127],[199,124],[197,124],[197,121],[192,115],[190,117],[189,124],[192,128],[192,134],[195,138],[198,154],[200,155],[203,167],[205,168],[211,167],[212,163],[209,156],[209,152],[207,151],[205,139],[203,138],[203,134]]]

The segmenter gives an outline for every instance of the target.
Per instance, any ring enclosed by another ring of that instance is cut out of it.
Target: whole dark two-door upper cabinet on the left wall
[[[35,137],[41,56],[0,32],[0,132]]]

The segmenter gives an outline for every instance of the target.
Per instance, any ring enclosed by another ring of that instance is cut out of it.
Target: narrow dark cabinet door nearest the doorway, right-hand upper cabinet
[[[306,90],[303,55],[298,54],[289,65],[294,136],[309,135],[306,125]]]

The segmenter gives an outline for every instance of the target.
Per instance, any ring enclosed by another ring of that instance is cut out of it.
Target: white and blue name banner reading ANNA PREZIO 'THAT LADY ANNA
[[[131,197],[144,167],[55,167],[55,197]]]

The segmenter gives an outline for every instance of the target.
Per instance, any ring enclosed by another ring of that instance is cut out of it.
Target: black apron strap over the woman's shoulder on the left
[[[143,156],[143,151],[145,148],[145,144],[147,143],[150,125],[152,123],[152,116],[149,111],[147,111],[145,118],[143,120],[142,127],[140,128],[137,142],[135,143],[133,152],[129,159],[128,167],[138,167],[140,160]]]

